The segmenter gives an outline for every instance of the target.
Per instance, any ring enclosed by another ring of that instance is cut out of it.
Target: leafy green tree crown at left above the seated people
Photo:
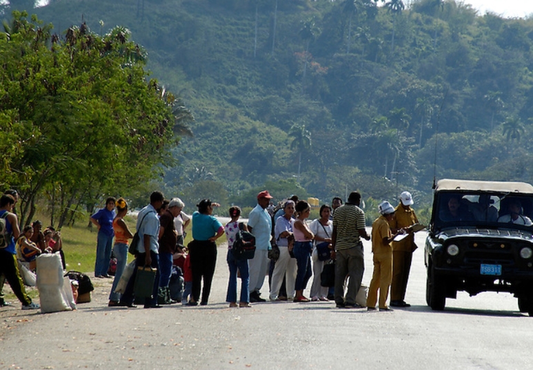
[[[145,52],[125,28],[100,37],[83,23],[60,41],[50,25],[26,17],[13,12],[18,26],[0,35],[0,119],[15,136],[6,173],[21,194],[21,224],[50,188],[60,189],[64,222],[88,188],[116,195],[159,175],[154,168],[172,163],[179,142],[174,127],[192,115],[146,78]]]

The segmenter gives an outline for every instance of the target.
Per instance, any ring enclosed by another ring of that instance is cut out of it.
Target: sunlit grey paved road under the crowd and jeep
[[[1,369],[533,369],[533,318],[507,293],[460,293],[443,312],[425,304],[423,233],[408,288],[410,309],[336,309],[332,302],[229,309],[219,248],[208,306],[110,309],[110,282],[77,311],[0,309]],[[365,243],[370,283],[370,243]],[[263,287],[268,295],[268,284]]]

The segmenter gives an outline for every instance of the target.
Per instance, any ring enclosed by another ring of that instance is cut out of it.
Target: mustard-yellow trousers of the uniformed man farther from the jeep
[[[379,308],[387,308],[389,286],[392,282],[392,253],[374,254],[374,272],[368,288],[366,305],[375,307],[379,289]]]

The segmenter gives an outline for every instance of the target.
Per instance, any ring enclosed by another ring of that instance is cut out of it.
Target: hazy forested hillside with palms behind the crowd
[[[428,204],[434,175],[533,182],[533,19],[452,0],[63,0],[34,12],[62,37],[83,22],[124,26],[148,50],[196,119],[163,179],[188,204],[251,206],[263,187],[325,202],[359,189],[370,204],[408,189]]]

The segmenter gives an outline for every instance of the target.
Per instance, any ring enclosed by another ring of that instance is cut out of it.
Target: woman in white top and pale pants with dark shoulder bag
[[[312,253],[313,262],[313,284],[311,285],[311,300],[312,301],[327,301],[328,287],[320,285],[320,274],[324,268],[324,262],[319,260],[319,255],[316,253],[316,244],[322,242],[331,243],[331,235],[333,233],[333,222],[330,220],[331,207],[328,204],[323,204],[320,207],[320,218],[311,222],[309,228],[314,233],[315,246]]]

